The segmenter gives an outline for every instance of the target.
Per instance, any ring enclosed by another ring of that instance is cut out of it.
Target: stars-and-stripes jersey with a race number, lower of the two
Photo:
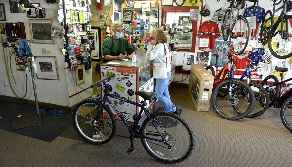
[[[258,72],[251,72],[251,78],[262,79],[263,73],[267,71],[268,64],[270,63],[271,54],[264,48],[253,49],[251,54],[248,56],[248,61],[256,62],[257,65],[260,64],[260,69]],[[262,71],[262,72],[261,72]]]

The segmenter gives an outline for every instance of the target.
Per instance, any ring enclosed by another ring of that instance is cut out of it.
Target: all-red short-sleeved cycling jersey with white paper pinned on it
[[[213,51],[215,45],[215,39],[220,37],[218,24],[215,22],[203,22],[199,26],[198,35],[199,38],[209,38],[208,47],[199,47],[202,51]]]

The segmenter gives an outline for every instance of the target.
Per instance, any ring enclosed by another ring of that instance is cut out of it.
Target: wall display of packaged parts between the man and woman
[[[145,46],[148,44],[149,31],[159,28],[159,8],[151,8],[150,12],[141,12],[137,8],[124,9],[123,26],[131,45]]]

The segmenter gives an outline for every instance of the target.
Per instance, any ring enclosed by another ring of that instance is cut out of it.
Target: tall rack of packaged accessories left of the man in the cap
[[[59,5],[64,10],[64,48],[67,53],[65,61],[69,63],[76,58],[79,63],[88,65],[91,62],[91,39],[88,38],[88,33],[91,31],[92,15],[89,5],[87,1],[80,0],[63,0]]]

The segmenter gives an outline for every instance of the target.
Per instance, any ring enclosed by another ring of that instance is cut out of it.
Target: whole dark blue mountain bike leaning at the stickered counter
[[[144,99],[140,103],[110,94],[106,81],[108,82],[114,77],[115,75],[108,76],[87,88],[98,86],[104,91],[104,96],[99,100],[84,100],[77,105],[73,114],[73,122],[78,134],[88,143],[95,145],[105,144],[114,137],[117,128],[116,120],[109,106],[105,104],[108,102],[129,129],[131,148],[126,151],[128,154],[135,151],[133,146],[135,137],[141,138],[142,145],[148,154],[160,162],[173,164],[187,159],[192,154],[195,144],[190,125],[174,113],[164,111],[150,113],[146,107],[146,100],[155,98],[155,92],[136,91],[135,95]],[[132,126],[126,122],[127,113],[118,111],[108,97],[141,107],[139,114],[133,115],[134,124]],[[147,118],[140,126],[143,111]]]

